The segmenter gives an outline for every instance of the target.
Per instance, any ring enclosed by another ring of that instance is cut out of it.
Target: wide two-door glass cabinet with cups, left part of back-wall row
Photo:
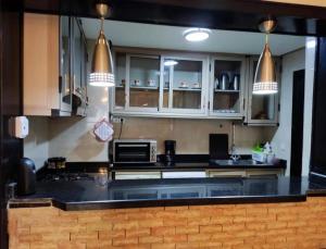
[[[114,113],[204,113],[203,58],[116,52]]]

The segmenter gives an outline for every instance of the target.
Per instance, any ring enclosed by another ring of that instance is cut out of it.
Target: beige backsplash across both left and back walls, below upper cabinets
[[[65,157],[72,162],[108,161],[108,142],[100,142],[92,135],[101,114],[84,119],[29,116],[30,134],[24,140],[24,155],[33,159],[37,169],[51,157]],[[120,128],[120,124],[114,124],[114,138],[118,137]],[[274,134],[271,127],[236,125],[235,130],[239,153],[249,153],[252,146],[271,140]],[[156,139],[159,153],[164,153],[166,139],[177,141],[177,153],[209,153],[211,133],[228,134],[231,146],[231,122],[216,120],[127,117],[121,138]]]

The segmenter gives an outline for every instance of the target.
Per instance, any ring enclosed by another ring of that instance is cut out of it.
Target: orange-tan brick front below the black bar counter
[[[326,248],[326,198],[98,211],[9,209],[10,248]]]

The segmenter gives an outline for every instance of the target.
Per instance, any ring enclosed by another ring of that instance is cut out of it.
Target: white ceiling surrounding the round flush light
[[[86,37],[96,39],[100,22],[83,18]],[[105,21],[104,32],[114,46],[161,48],[206,52],[260,54],[264,35],[259,33],[212,30],[208,40],[189,42],[183,37],[186,27]],[[271,35],[271,50],[275,55],[304,47],[305,38],[298,36]]]

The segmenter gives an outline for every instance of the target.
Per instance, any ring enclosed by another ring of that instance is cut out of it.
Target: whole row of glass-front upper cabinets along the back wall
[[[277,124],[278,95],[252,95],[256,57],[150,51],[115,52],[113,114]]]

